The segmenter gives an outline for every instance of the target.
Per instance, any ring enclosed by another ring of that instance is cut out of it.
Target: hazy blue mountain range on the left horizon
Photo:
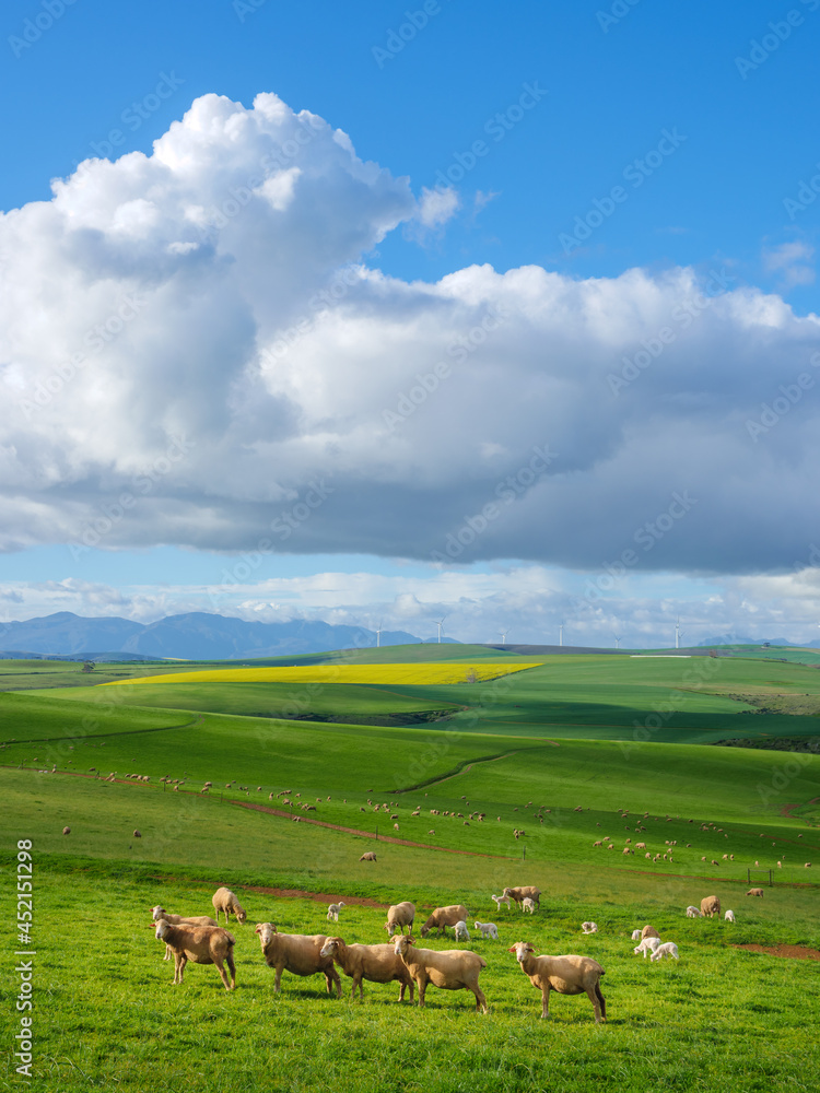
[[[418,637],[405,631],[383,631],[382,645],[412,645]],[[332,649],[370,648],[374,631],[363,626],[332,626],[326,622],[263,623],[194,611],[144,625],[127,619],[86,619],[60,611],[43,619],[10,622],[0,628],[4,649],[45,655],[102,659],[174,658],[180,660],[243,660]],[[2,655],[2,654],[0,654]]]

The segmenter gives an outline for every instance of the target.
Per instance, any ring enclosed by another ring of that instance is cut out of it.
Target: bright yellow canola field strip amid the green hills
[[[481,683],[500,675],[538,668],[541,660],[487,661],[476,663],[442,662],[427,665],[314,665],[305,668],[215,668],[201,672],[174,672],[168,675],[140,675],[116,680],[102,686],[130,686],[133,683],[377,683],[383,686],[415,684],[433,686],[446,683]]]

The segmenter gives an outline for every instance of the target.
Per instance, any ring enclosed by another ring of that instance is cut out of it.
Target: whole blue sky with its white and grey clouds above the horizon
[[[693,640],[816,637],[820,0],[49,0],[0,19],[0,208],[24,210],[1,240],[7,618],[218,602],[410,630],[446,611],[472,639],[514,618],[511,639],[553,640],[565,621],[579,644],[668,644],[678,614]],[[284,120],[255,109],[266,93]],[[213,95],[241,104],[253,140]],[[251,186],[242,215],[211,220],[207,255],[203,236],[168,244],[156,225],[224,212],[253,141],[281,150],[283,127],[308,132],[303,110],[329,128],[255,179],[276,189],[263,209]],[[70,179],[151,157],[169,129],[162,162]],[[184,255],[202,256],[194,272]],[[55,346],[129,292],[125,334],[32,403]],[[190,305],[201,345],[183,298],[208,302]],[[476,330],[481,345],[459,342]],[[408,402],[458,344],[469,375]],[[361,420],[340,409],[350,391]],[[309,519],[269,534],[308,496]]]

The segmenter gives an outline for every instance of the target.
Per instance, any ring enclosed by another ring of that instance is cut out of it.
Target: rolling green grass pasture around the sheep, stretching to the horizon
[[[403,662],[420,650],[465,651],[412,646]],[[398,661],[364,653],[388,654]],[[714,744],[813,747],[811,666],[567,655],[485,684],[315,689],[98,687],[145,669],[2,667],[0,860],[32,841],[40,1088],[817,1088],[817,963],[733,945],[820,949],[820,754]],[[623,853],[637,842],[646,851]],[[360,863],[366,849],[375,865]],[[745,896],[748,870],[763,900]],[[249,913],[235,928],[237,992],[195,965],[172,987],[148,908],[207,914],[223,883]],[[490,901],[516,883],[541,888],[536,916]],[[686,918],[712,893],[736,924]],[[330,898],[350,903],[338,927]],[[393,986],[359,1004],[349,980],[337,1001],[320,977],[288,973],[273,996],[254,922],[375,942],[384,909],[355,901],[402,898],[465,902],[497,922],[501,942],[470,944],[488,960],[489,1016],[462,991],[431,990],[419,1011]],[[587,918],[598,935],[581,935]],[[633,956],[646,921],[678,942],[679,963]],[[557,995],[539,1021],[506,951],[522,939],[599,959],[609,1023],[595,1026],[584,996]],[[16,1088],[8,1041],[4,1053]]]

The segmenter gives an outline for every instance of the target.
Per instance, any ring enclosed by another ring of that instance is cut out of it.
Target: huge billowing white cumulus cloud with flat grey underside
[[[89,161],[5,214],[0,548],[805,556],[817,317],[723,269],[431,284],[368,262],[455,201],[417,200],[276,95],[207,95],[152,155]]]

